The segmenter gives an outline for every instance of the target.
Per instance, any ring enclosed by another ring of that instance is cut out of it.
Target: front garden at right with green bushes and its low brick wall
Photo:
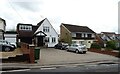
[[[101,54],[107,54],[107,55],[111,55],[111,56],[120,58],[120,52],[119,52],[120,46],[117,45],[117,42],[114,40],[107,41],[106,47],[101,47],[101,45],[96,42],[92,43],[91,48],[88,49],[88,51],[101,53]]]

